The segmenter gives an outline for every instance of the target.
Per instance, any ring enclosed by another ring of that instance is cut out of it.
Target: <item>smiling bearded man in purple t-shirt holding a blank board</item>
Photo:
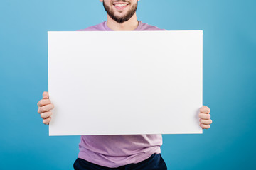
[[[107,21],[80,31],[163,30],[137,20],[137,0],[100,0],[107,11]],[[38,102],[38,113],[49,124],[53,109],[48,92]],[[184,106],[186,107],[186,106]],[[210,109],[200,108],[198,117],[202,128],[210,128]],[[72,115],[72,113],[70,113]],[[87,135],[81,136],[80,152],[75,169],[167,169],[161,157],[161,135]]]

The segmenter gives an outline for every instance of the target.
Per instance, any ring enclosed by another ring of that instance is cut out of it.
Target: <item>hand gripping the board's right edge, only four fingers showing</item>
[[[210,119],[210,108],[202,106],[200,108],[199,118],[200,126],[203,129],[210,128],[210,124],[213,123],[213,120]]]

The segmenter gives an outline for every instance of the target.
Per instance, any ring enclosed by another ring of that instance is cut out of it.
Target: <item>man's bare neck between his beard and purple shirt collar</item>
[[[139,21],[137,21],[136,13],[124,23],[117,23],[107,15],[107,26],[112,30],[135,30],[139,26]]]

